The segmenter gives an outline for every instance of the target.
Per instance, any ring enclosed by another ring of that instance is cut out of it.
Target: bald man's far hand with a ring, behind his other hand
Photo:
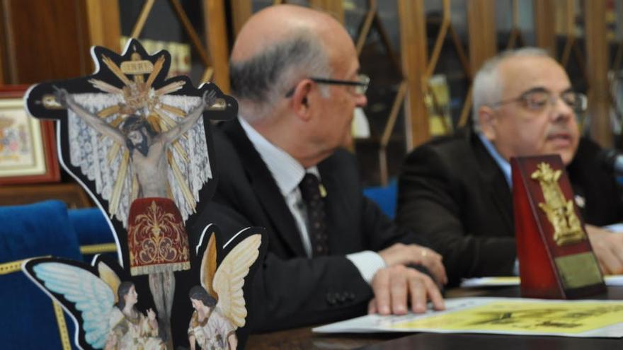
[[[379,252],[385,264],[391,267],[396,264],[401,265],[422,265],[428,272],[433,274],[435,281],[439,284],[447,284],[445,268],[441,262],[442,257],[434,250],[422,247],[421,245],[404,245],[396,243]]]

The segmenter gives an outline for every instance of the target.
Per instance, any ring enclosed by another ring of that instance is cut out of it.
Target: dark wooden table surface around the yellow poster
[[[520,297],[519,287],[456,288],[446,298],[466,296]],[[623,287],[608,287],[592,299],[623,300]],[[247,350],[278,349],[623,349],[622,339],[508,336],[494,334],[370,333],[315,334],[311,327],[253,334]]]

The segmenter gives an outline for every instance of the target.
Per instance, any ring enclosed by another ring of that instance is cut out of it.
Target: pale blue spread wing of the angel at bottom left
[[[112,269],[102,268],[108,269],[105,272],[108,279],[119,280]],[[74,303],[76,310],[81,313],[81,317],[74,315],[74,320],[82,319],[82,325],[76,327],[76,332],[78,328],[83,329],[86,342],[95,349],[103,349],[110,330],[108,320],[116,291],[90,271],[62,262],[41,262],[33,267],[33,272],[43,281],[42,288],[61,294],[67,301]],[[110,276],[111,273],[114,276]]]

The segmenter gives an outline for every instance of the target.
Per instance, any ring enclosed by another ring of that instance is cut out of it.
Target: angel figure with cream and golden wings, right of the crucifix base
[[[195,350],[234,350],[236,329],[243,327],[246,303],[242,287],[248,269],[259,255],[261,235],[250,235],[236,245],[216,268],[215,237],[212,235],[201,262],[201,286],[188,296],[195,311],[188,325],[188,342]]]

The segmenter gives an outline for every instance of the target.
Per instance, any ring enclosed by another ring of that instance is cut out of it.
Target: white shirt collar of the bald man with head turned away
[[[318,168],[313,166],[307,170],[295,158],[282,148],[271,144],[262,134],[251,127],[243,117],[238,117],[242,129],[246,132],[251,144],[260,153],[260,157],[266,163],[268,170],[273,175],[282,196],[287,196],[297,189],[305,173],[312,173],[320,179]]]

